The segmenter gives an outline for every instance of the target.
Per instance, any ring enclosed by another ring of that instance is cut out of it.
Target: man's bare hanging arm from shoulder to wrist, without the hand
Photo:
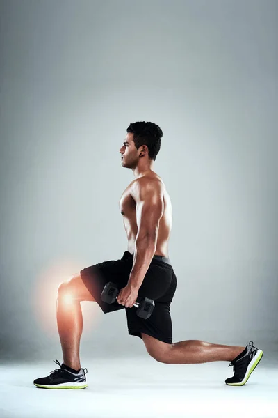
[[[163,215],[163,185],[159,180],[140,178],[133,185],[136,201],[136,235],[133,267],[128,285],[139,289],[156,251],[159,221]]]

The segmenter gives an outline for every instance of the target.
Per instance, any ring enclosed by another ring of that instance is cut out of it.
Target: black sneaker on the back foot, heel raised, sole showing
[[[253,341],[247,344],[245,350],[247,353],[240,357],[236,357],[229,366],[234,366],[234,376],[226,379],[226,385],[231,386],[243,386],[250,378],[250,374],[256,366],[259,364],[261,357],[263,357],[263,351],[259,348],[254,347]]]

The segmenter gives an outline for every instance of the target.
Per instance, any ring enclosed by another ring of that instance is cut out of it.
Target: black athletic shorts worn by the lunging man
[[[120,260],[91,265],[81,270],[80,274],[85,286],[104,314],[120,309],[126,310],[130,335],[142,338],[141,332],[143,332],[160,341],[172,344],[170,304],[176,291],[177,277],[172,265],[169,264],[170,261],[166,263],[162,261],[164,259],[161,256],[154,256],[138,291],[138,297],[149,297],[154,300],[154,311],[148,319],[137,316],[136,307],[126,308],[122,304],[118,304],[117,300],[113,304],[101,300],[101,292],[108,281],[117,284],[119,291],[126,286],[133,265],[133,254],[125,251]]]

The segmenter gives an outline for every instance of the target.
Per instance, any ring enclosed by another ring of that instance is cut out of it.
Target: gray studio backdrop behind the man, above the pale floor
[[[277,1],[1,1],[1,358],[62,359],[56,289],[121,258],[126,127],[161,126],[173,341],[278,343]],[[145,355],[82,302],[81,356]]]

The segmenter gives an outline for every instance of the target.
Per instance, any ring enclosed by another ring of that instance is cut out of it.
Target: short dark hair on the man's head
[[[156,160],[161,149],[161,138],[163,132],[161,128],[152,122],[134,122],[129,125],[126,132],[133,134],[133,142],[137,149],[141,145],[146,145],[149,149],[149,158]]]

